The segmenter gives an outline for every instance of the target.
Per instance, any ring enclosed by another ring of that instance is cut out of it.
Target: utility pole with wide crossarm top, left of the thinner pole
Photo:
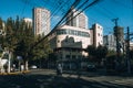
[[[112,21],[115,23],[115,26],[114,26],[114,35],[115,35],[115,38],[116,38],[116,59],[115,59],[115,69],[117,69],[119,67],[119,59],[120,59],[120,54],[121,54],[121,47],[120,47],[120,40],[119,40],[119,26],[117,26],[117,20],[119,18],[116,19],[113,19]]]

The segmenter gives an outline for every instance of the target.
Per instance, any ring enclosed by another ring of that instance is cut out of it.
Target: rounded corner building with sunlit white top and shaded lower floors
[[[103,29],[93,30],[102,31]],[[94,35],[101,33],[101,37],[95,36],[95,38],[99,38],[95,41],[98,41],[98,43],[100,41],[100,43],[103,44],[101,42],[103,35],[100,31],[95,32],[76,26],[63,25],[55,29],[54,32],[48,36],[48,38],[50,41],[51,48],[53,48],[58,57],[58,61],[63,62],[64,68],[74,68],[78,61],[85,61],[85,58],[88,57],[86,47],[93,44],[92,38]],[[91,34],[93,32],[95,32],[96,34]],[[73,62],[73,64],[68,64],[70,62]],[[85,64],[81,63],[81,65],[83,67],[83,65]]]

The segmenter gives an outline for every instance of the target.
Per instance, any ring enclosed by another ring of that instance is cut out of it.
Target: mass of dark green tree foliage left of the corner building
[[[47,38],[31,48],[40,38],[42,37],[35,38],[32,28],[17,16],[16,20],[7,19],[6,36],[0,36],[0,44],[12,52],[13,56],[22,56],[24,61],[48,58],[51,48]]]

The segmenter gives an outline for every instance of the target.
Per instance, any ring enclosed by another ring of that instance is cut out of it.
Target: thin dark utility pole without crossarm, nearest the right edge
[[[130,62],[130,28],[127,26],[127,36],[126,36],[126,63],[127,63],[127,73],[131,74],[131,62]]]

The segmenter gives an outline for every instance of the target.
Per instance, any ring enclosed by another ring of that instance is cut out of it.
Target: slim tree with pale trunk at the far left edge
[[[6,36],[3,36],[2,38],[2,46],[6,47],[4,51],[8,52],[9,54],[9,63],[8,63],[8,73],[10,73],[10,61],[13,56],[13,52],[14,52],[14,48],[16,48],[16,43],[17,43],[17,38],[14,36],[14,22],[12,20],[12,18],[9,18],[6,22]]]

